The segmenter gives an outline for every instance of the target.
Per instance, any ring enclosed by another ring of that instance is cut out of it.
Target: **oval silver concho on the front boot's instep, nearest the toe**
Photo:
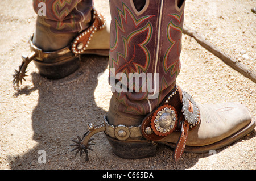
[[[195,124],[197,124],[199,122],[199,117],[200,117],[199,108],[198,108],[195,100],[193,100],[191,95],[189,95],[187,92],[183,91],[182,96],[183,96],[183,98],[182,98],[182,101],[183,101],[182,111],[183,111],[183,115],[185,117],[185,120],[187,120],[188,123],[191,124],[191,127],[195,126]],[[193,104],[193,113],[188,111],[189,101]]]

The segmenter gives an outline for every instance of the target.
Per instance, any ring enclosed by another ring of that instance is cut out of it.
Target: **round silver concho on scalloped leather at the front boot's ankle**
[[[175,111],[171,108],[164,108],[158,111],[154,123],[156,131],[160,133],[167,133],[174,128],[175,121],[177,120]]]

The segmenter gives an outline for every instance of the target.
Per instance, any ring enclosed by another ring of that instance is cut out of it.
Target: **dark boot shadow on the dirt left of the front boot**
[[[29,90],[24,87],[14,95],[39,92],[38,104],[32,112],[32,139],[36,146],[23,155],[9,157],[11,169],[68,169],[63,165],[63,161],[67,162],[63,158],[74,155],[69,146],[71,140],[76,135],[81,137],[88,123],[102,123],[106,111],[97,106],[94,91],[98,85],[98,74],[108,67],[108,57],[86,55],[80,63],[75,73],[59,80],[49,80],[32,73],[34,87]],[[38,163],[42,150],[46,153],[46,164]],[[77,157],[78,162],[79,159]]]

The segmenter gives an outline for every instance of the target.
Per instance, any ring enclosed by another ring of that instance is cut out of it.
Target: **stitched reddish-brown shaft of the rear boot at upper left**
[[[93,5],[94,0],[48,0],[45,2],[33,0],[34,11],[44,19],[43,24],[55,34],[77,33],[85,30],[92,19]]]

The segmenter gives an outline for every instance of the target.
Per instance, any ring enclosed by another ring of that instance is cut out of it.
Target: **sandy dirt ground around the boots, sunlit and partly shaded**
[[[87,124],[101,124],[112,95],[106,82],[108,57],[86,56],[74,74],[57,81],[40,77],[28,66],[20,90],[11,79],[21,54],[30,53],[28,39],[35,30],[32,1],[0,1],[0,169],[256,169],[256,131],[216,154],[184,153],[175,163],[171,148],[159,145],[155,157],[126,160],[112,151],[104,133],[94,136],[94,151],[85,161],[71,153],[71,140]],[[96,8],[110,18],[109,1]],[[187,0],[185,24],[210,43],[256,70],[255,0]],[[240,102],[256,116],[256,85],[183,35],[181,73],[177,83],[196,102]],[[101,74],[100,74],[101,73]],[[100,75],[99,75],[100,74]],[[99,75],[99,76],[98,76]],[[40,150],[46,163],[39,163]]]

